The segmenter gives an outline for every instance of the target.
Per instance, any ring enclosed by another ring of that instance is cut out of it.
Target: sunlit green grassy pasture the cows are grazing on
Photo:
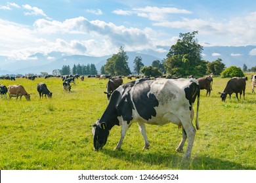
[[[31,93],[31,101],[0,98],[0,169],[256,169],[256,95],[250,80],[245,101],[234,94],[221,101],[218,92],[227,78],[213,78],[211,97],[201,90],[200,130],[185,162],[183,153],[175,152],[182,131],[173,124],[146,125],[149,150],[142,150],[142,135],[133,124],[122,150],[114,151],[120,134],[116,126],[106,146],[93,151],[91,125],[108,104],[103,93],[107,80],[76,81],[72,92],[64,93],[60,78],[0,80],[6,86],[22,84]],[[47,84],[52,99],[39,99],[39,82]]]

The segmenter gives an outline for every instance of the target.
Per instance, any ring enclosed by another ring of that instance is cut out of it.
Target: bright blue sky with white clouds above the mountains
[[[192,31],[202,46],[256,45],[256,1],[0,1],[0,56],[15,60],[37,52],[105,56],[120,46],[163,53]]]

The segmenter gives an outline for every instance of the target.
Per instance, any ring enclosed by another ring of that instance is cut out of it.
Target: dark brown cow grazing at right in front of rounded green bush
[[[232,78],[228,80],[228,83],[226,84],[226,88],[224,89],[223,93],[219,92],[221,94],[222,101],[226,100],[226,95],[229,95],[229,99],[231,99],[232,93],[236,93],[237,99],[238,99],[238,93],[240,93],[240,99],[241,99],[242,93],[243,95],[245,95],[244,93],[245,86],[246,86],[245,78]]]

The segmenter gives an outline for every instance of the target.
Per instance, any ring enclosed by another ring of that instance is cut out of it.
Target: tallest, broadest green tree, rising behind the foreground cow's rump
[[[171,46],[167,54],[165,69],[168,73],[176,73],[179,76],[205,74],[206,67],[205,70],[203,70],[203,66],[199,67],[199,65],[204,63],[201,60],[203,47],[195,39],[197,33],[198,31],[180,33],[180,39],[178,39],[176,44]]]

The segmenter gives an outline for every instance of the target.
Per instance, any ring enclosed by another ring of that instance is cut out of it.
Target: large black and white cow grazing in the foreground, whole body
[[[176,150],[182,152],[184,142],[188,138],[184,158],[190,158],[196,134],[192,124],[196,97],[196,129],[199,129],[200,87],[196,79],[140,79],[119,86],[112,93],[101,118],[93,124],[95,150],[100,150],[106,144],[110,129],[114,125],[121,125],[121,138],[116,146],[116,149],[120,149],[127,129],[135,122],[139,124],[144,137],[144,148],[148,149],[145,123],[164,125],[171,122],[182,126],[182,139]]]

